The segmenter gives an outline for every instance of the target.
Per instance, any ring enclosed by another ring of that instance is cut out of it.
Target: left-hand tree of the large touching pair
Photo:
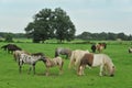
[[[51,9],[43,9],[35,14],[34,21],[25,28],[26,34],[33,37],[34,43],[44,42],[54,35],[52,24],[53,13]]]

